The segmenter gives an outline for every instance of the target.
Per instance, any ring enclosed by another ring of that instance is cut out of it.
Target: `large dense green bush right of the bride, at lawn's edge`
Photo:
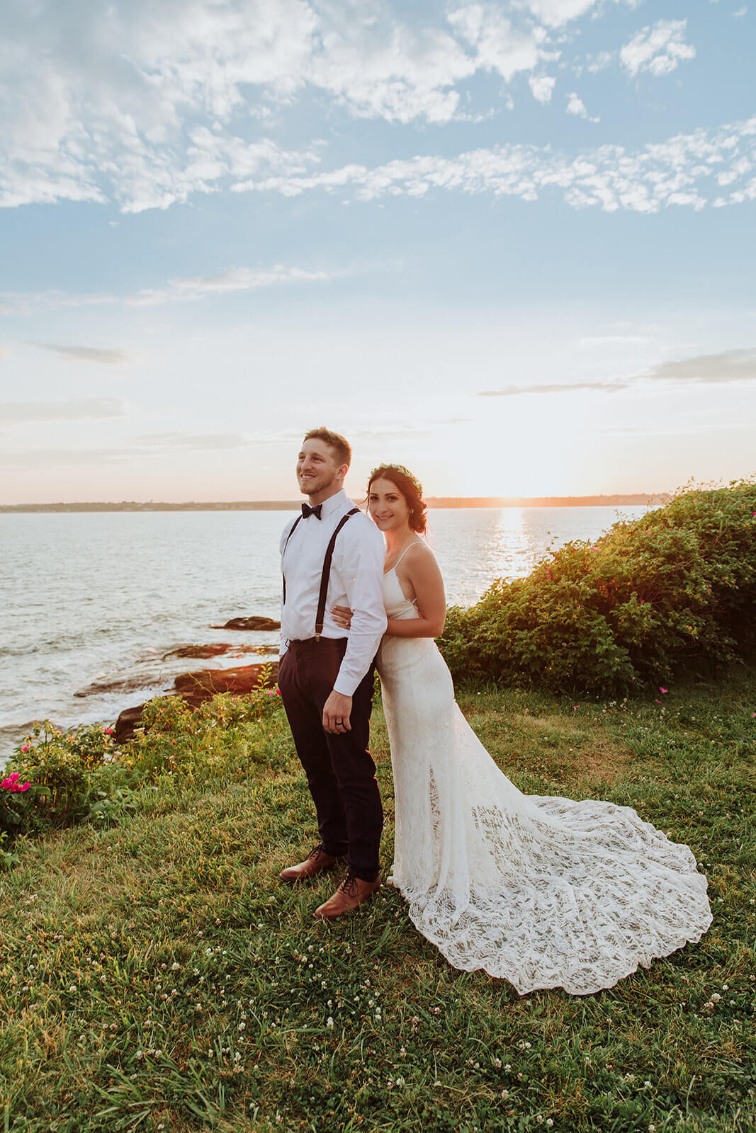
[[[439,644],[457,680],[615,696],[753,657],[755,614],[756,482],[739,480],[498,579]]]

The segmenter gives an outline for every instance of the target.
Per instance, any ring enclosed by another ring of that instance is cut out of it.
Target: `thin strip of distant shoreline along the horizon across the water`
[[[428,508],[621,508],[661,504],[671,499],[669,492],[636,492],[626,495],[593,496],[428,496]],[[235,500],[218,503],[3,503],[0,514],[34,512],[100,511],[296,511],[300,500]]]

